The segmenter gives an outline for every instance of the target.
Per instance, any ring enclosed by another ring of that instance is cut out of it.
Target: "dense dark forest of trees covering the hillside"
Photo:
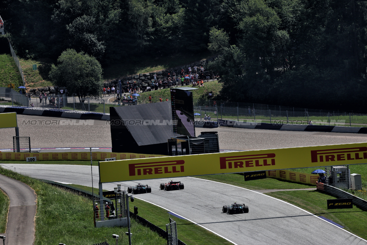
[[[21,56],[68,48],[103,66],[210,50],[221,98],[366,112],[367,3],[357,0],[4,0]]]

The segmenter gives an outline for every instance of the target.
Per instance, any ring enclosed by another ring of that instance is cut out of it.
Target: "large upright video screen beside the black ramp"
[[[173,132],[195,137],[192,92],[185,88],[171,88],[171,107]]]

